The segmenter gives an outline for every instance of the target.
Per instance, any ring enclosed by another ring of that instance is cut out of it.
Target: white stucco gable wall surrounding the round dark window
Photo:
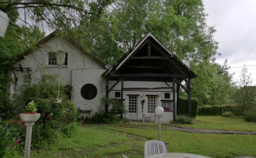
[[[13,64],[13,67],[19,68],[19,65],[21,65],[22,68],[30,68],[32,71],[29,71],[29,75],[31,76],[32,83],[40,81],[42,74],[52,74],[58,77],[59,67],[48,65],[48,52],[56,51],[64,51],[68,53],[67,66],[62,66],[61,68],[60,81],[64,85],[75,86],[72,91],[72,101],[75,103],[76,107],[82,107],[80,103],[85,101],[84,99],[82,100],[79,98],[80,93],[78,93],[81,88],[79,86],[82,86],[83,83],[91,81],[97,85],[99,91],[97,98],[101,96],[101,93],[105,94],[104,88],[101,86],[101,84],[104,84],[104,78],[101,77],[101,73],[103,73],[105,69],[99,63],[95,62],[94,59],[83,54],[81,50],[69,41],[59,39],[58,37],[53,37],[48,40],[42,47],[25,56],[25,59],[21,59]],[[74,73],[77,72],[77,70],[81,71],[80,75]],[[29,77],[26,70],[22,73],[21,70],[16,69],[14,72],[17,75],[17,81],[14,79],[13,72],[9,72],[10,77],[13,79],[13,83],[10,84],[10,95],[13,95],[14,92],[18,92],[18,89],[24,84],[24,79]],[[90,77],[88,77],[87,74],[90,74]]]

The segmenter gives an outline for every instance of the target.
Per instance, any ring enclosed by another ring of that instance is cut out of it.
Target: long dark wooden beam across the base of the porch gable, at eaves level
[[[110,77],[166,77],[166,78],[189,78],[189,75],[181,75],[181,74],[168,74],[168,73],[126,73],[126,74],[113,74]]]

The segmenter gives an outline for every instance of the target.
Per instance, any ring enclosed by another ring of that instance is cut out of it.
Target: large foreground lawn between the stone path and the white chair
[[[143,157],[143,145],[157,139],[158,130],[114,126],[82,126],[73,137],[48,149],[32,149],[31,157],[129,158]],[[237,134],[191,134],[162,130],[168,152],[190,152],[210,157],[256,156],[256,136]],[[23,157],[22,153],[21,156]]]

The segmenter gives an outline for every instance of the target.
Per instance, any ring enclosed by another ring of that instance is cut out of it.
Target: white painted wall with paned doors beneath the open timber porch
[[[109,81],[109,87],[112,87],[116,81]],[[159,88],[159,87],[168,87],[170,88]],[[124,117],[132,120],[142,120],[143,114],[148,115],[151,120],[155,120],[154,113],[149,113],[148,111],[148,101],[149,97],[155,97],[155,107],[162,107],[162,100],[165,101],[172,101],[173,100],[173,92],[172,92],[172,82],[158,82],[158,81],[124,81],[124,107],[127,111]],[[125,88],[129,88],[125,90]],[[130,89],[132,88],[132,89]],[[139,89],[139,88],[153,88],[153,89]],[[158,88],[158,89],[154,89]],[[110,98],[120,99],[120,97],[115,97],[115,92],[121,91],[121,83],[119,82],[112,91],[109,92]],[[170,98],[165,98],[165,93],[170,94]],[[129,97],[135,96],[137,98],[137,106],[136,112],[129,111]],[[177,100],[177,93],[175,93],[175,97]],[[142,103],[144,100],[144,103]],[[177,103],[177,102],[176,102]],[[175,105],[176,106],[176,105]],[[174,118],[174,107],[172,105],[171,111],[165,111],[162,121],[163,122],[170,122]],[[177,109],[177,108],[175,108]],[[177,110],[175,111],[177,113]]]

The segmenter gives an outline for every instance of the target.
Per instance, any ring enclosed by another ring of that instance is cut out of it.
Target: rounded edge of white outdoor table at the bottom
[[[178,153],[178,152],[170,152],[170,153],[162,153],[149,156],[147,158],[211,158],[208,156],[200,156],[192,153]]]

